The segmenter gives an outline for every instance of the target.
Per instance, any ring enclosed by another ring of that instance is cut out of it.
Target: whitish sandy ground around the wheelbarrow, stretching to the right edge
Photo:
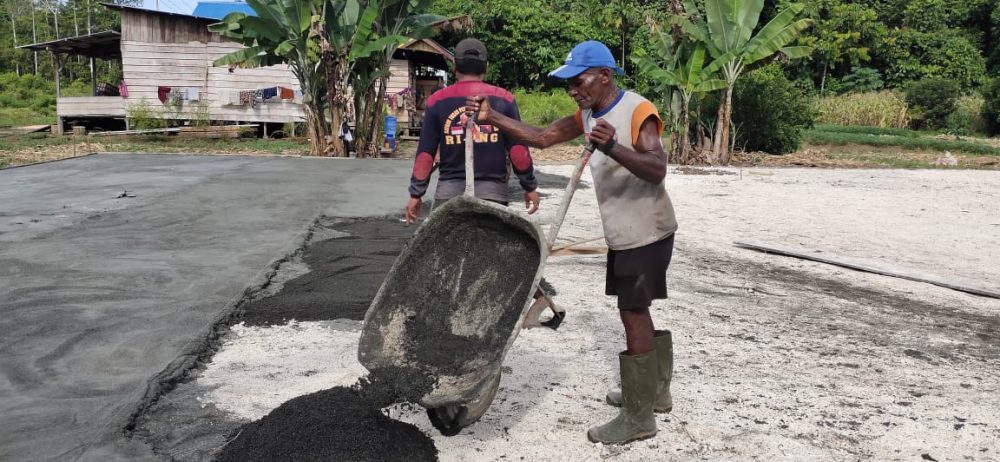
[[[658,416],[656,437],[586,441],[616,412],[603,396],[624,344],[603,296],[604,256],[549,260],[568,319],[521,332],[480,422],[444,437],[418,406],[386,412],[431,435],[446,461],[1000,460],[1000,300],[732,245],[770,241],[998,288],[995,173],[684,172],[667,179],[681,230],[670,298],[653,307],[676,345],[675,408]],[[561,191],[544,192],[546,224]],[[578,191],[562,240],[601,234],[593,190]],[[210,390],[198,400],[249,421],[351,384],[364,373],[359,330],[236,326],[196,375]]]

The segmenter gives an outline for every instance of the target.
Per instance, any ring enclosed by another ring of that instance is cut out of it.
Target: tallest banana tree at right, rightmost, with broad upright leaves
[[[694,14],[698,10],[692,1],[685,1],[684,7],[689,16],[682,27],[703,43],[713,58],[703,71],[721,71],[726,82],[716,119],[712,155],[714,162],[728,164],[732,157],[729,130],[736,79],[755,63],[778,57],[795,59],[808,56],[811,48],[786,45],[809,27],[810,20],[798,18],[803,7],[795,4],[782,10],[757,34],[753,34],[764,0],[707,0],[704,20]]]

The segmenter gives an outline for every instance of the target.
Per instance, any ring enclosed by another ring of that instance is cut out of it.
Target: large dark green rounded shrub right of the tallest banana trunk
[[[808,98],[776,64],[736,81],[733,127],[737,146],[772,154],[793,152],[802,145],[802,131],[812,127],[815,118]]]

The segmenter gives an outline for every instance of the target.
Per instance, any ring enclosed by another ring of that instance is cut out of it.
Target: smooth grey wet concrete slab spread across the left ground
[[[135,414],[318,216],[399,214],[409,170],[95,155],[0,171],[0,460],[153,458],[125,437]]]

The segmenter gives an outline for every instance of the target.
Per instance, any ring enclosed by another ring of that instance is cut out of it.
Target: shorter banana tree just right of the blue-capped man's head
[[[633,61],[669,95],[671,138],[674,140],[671,157],[675,162],[686,164],[691,146],[688,136],[691,98],[695,94],[721,90],[726,82],[706,72],[704,45],[682,41],[673,46],[671,36],[658,27],[654,27],[652,33],[656,57],[636,50]]]

